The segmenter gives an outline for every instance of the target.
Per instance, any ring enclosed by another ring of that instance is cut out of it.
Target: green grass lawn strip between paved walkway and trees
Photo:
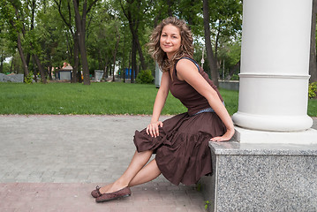
[[[0,83],[0,114],[152,114],[155,85],[130,83]],[[238,110],[238,91],[220,90],[230,115]],[[162,114],[186,109],[169,95]],[[308,103],[308,115],[317,117],[317,100]]]

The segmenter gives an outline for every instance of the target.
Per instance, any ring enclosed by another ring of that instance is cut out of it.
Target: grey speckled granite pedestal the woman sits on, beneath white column
[[[210,142],[209,211],[317,211],[317,145]]]

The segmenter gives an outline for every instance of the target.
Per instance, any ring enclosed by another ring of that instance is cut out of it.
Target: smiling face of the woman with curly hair
[[[162,28],[160,47],[166,52],[167,57],[172,57],[180,48],[181,36],[179,29],[173,25],[166,25]]]

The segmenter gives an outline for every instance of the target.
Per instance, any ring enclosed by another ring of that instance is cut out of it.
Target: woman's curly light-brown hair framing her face
[[[162,28],[172,25],[179,29],[181,36],[181,45],[177,53],[169,60],[166,53],[160,47],[160,38],[162,34]],[[192,32],[186,25],[185,20],[177,19],[176,17],[169,17],[163,19],[162,22],[155,27],[154,31],[150,36],[150,42],[147,43],[149,54],[156,60],[159,64],[162,72],[169,72],[170,68],[179,60],[181,57],[193,55],[193,45],[192,45]]]

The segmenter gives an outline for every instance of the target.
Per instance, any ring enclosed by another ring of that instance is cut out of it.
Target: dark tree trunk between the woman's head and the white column
[[[213,80],[215,86],[219,86],[218,82],[218,70],[214,57],[214,52],[211,46],[210,40],[210,27],[209,27],[209,5],[208,0],[203,0],[203,16],[204,16],[204,30],[205,30],[205,45],[207,51],[207,58],[209,63],[209,74]]]

